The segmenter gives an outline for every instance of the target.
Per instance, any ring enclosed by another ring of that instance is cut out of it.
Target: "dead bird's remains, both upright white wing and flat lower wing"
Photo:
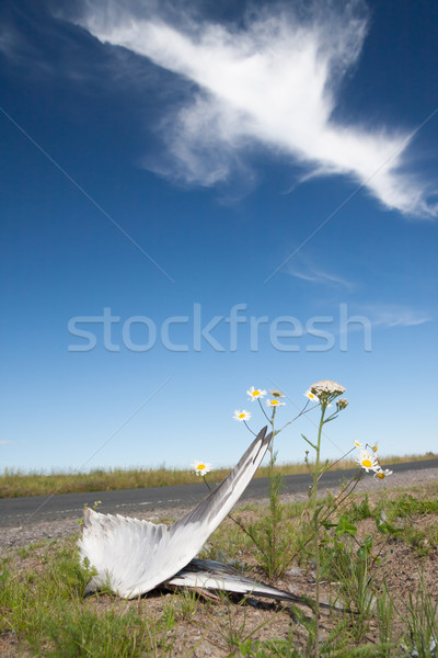
[[[249,578],[231,565],[195,559],[258,468],[272,439],[266,430],[258,433],[226,479],[172,525],[85,509],[78,542],[80,559],[95,570],[85,595],[105,589],[134,599],[158,587],[192,588],[301,603],[315,610],[312,599]],[[332,608],[327,603],[320,606]]]

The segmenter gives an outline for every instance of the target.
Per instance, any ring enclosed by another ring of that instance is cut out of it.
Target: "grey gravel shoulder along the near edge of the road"
[[[413,488],[422,485],[431,484],[438,481],[438,468],[425,468],[424,470],[407,470],[405,473],[394,474],[385,481],[376,481],[371,475],[364,477],[359,485],[356,487],[356,491],[376,491],[379,489],[396,489],[396,488]],[[336,494],[336,489],[323,489],[321,488],[321,495],[326,491]],[[306,500],[307,494],[297,494],[293,496],[284,497],[285,502],[291,502],[296,500]],[[245,501],[247,504],[249,501]],[[258,504],[265,504],[267,500],[256,501]],[[239,507],[239,506],[238,506]],[[186,508],[175,507],[168,510],[160,510],[159,513],[145,513],[143,508],[139,509],[135,515],[138,519],[147,519],[148,521],[158,521],[163,518],[178,519],[188,510]],[[23,526],[7,527],[1,531],[0,540],[0,555],[5,555],[11,548],[18,548],[20,546],[26,546],[28,544],[43,542],[46,540],[57,540],[60,537],[72,535],[80,531],[78,519],[64,519],[56,521],[42,521],[37,523],[30,523]]]

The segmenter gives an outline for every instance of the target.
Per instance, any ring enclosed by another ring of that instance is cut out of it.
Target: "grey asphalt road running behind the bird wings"
[[[385,465],[394,473],[438,468],[438,460],[425,460],[405,464]],[[321,486],[336,487],[349,478],[356,470],[327,472],[320,480]],[[284,494],[306,494],[311,480],[309,475],[288,475],[285,477]],[[211,485],[210,485],[211,486]],[[33,496],[26,498],[0,499],[0,527],[30,525],[39,521],[79,518],[83,506],[100,500],[99,511],[104,513],[135,514],[139,511],[157,512],[172,508],[194,507],[206,496],[206,488],[199,484],[177,485],[174,487],[150,487],[147,489],[125,489],[120,491],[93,491],[91,494],[58,494],[54,496]],[[244,491],[240,502],[267,498],[268,479],[253,479]]]

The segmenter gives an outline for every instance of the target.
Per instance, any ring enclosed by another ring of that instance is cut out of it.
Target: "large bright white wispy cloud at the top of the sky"
[[[299,163],[303,180],[347,175],[387,208],[438,214],[427,201],[434,190],[406,170],[408,131],[334,118],[339,83],[367,34],[360,0],[310,3],[301,13],[268,3],[239,26],[165,12],[154,2],[89,0],[85,7],[79,22],[101,42],[188,81],[188,100],[168,110],[160,126],[169,157],[149,168],[215,185],[242,169],[249,174],[247,155],[262,146]]]

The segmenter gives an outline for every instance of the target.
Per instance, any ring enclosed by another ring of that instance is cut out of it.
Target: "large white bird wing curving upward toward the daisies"
[[[270,438],[264,428],[226,479],[170,526],[87,509],[78,545],[81,560],[87,558],[97,571],[93,586],[134,599],[185,567],[242,496]]]

